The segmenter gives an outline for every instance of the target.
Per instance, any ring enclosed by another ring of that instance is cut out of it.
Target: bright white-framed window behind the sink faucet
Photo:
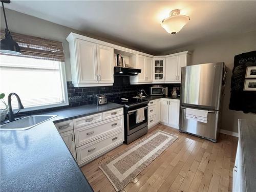
[[[1,54],[0,58],[0,92],[6,94],[5,100],[12,92],[18,94],[25,108],[23,111],[68,105],[63,58],[54,57],[52,51],[45,54],[49,52],[45,49],[46,44],[38,48],[39,44],[36,47],[31,39],[30,45],[17,42],[21,50],[26,46],[26,53],[22,52],[19,56]],[[40,53],[42,49],[44,54]],[[12,99],[12,107],[18,109],[15,97]],[[5,108],[2,102],[0,108]]]

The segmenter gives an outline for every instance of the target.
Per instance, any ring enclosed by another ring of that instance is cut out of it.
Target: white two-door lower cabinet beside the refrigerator
[[[180,100],[161,98],[160,103],[160,122],[178,129]]]

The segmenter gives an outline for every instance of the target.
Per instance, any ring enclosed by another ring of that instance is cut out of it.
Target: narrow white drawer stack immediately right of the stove
[[[160,99],[152,100],[148,103],[148,129],[158,124],[160,121]]]

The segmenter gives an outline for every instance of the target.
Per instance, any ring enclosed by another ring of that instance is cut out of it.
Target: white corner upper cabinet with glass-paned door
[[[165,58],[154,59],[153,81],[165,81]]]

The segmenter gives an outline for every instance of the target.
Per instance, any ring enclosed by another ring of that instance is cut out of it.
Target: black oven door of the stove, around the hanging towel
[[[143,127],[147,126],[147,113],[148,113],[148,106],[144,107],[144,116],[145,120],[136,123],[136,110],[127,111],[127,135],[131,135]]]

